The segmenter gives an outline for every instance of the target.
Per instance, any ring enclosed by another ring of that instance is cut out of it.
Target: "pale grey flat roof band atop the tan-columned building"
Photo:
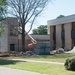
[[[69,22],[75,22],[75,14],[65,16],[65,17],[62,17],[62,18],[49,20],[47,22],[47,24],[48,24],[48,26],[49,25],[52,26],[52,25],[58,25],[58,24],[63,24],[63,23],[69,23]]]

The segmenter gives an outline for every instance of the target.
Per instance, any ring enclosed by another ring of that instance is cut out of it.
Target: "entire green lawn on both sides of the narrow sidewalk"
[[[75,56],[75,54],[55,54],[55,55],[36,55],[36,56],[22,56],[22,57],[7,57],[7,58],[20,58],[20,59],[32,59],[54,62],[65,62],[68,57]],[[6,59],[6,57],[3,57]],[[18,62],[5,60],[0,58],[0,66],[6,66],[11,68],[17,68],[22,70],[39,72],[47,75],[75,75],[73,71],[65,70],[64,65],[46,64],[46,63],[32,63],[32,62]]]

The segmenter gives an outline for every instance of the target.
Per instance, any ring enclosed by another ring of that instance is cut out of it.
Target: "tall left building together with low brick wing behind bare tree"
[[[0,36],[0,52],[22,51],[22,37],[18,33],[19,23],[17,18],[8,17],[1,21],[5,32]],[[25,37],[25,48],[34,41],[50,41],[49,35],[29,35]]]

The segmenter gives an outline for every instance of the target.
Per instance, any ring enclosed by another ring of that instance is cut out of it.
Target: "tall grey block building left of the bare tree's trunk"
[[[8,17],[1,22],[5,28],[4,33],[0,36],[0,52],[9,52],[18,50],[18,20]]]

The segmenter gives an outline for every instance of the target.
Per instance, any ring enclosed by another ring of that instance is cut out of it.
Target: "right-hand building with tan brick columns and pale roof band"
[[[61,47],[71,50],[75,46],[75,14],[49,20],[47,23],[53,50]]]

